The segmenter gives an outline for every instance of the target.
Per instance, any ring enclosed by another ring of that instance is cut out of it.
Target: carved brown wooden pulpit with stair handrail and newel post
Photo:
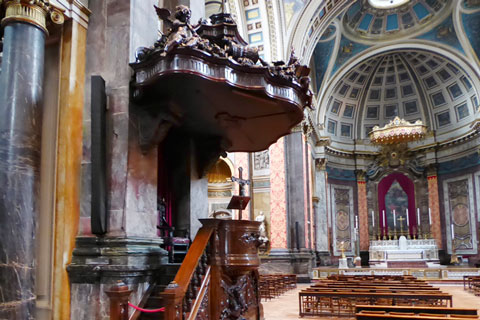
[[[262,319],[257,251],[261,243],[260,222],[200,221],[203,227],[175,279],[161,293],[165,307],[163,318]],[[131,292],[123,284],[106,292],[111,298],[112,320],[127,320]]]

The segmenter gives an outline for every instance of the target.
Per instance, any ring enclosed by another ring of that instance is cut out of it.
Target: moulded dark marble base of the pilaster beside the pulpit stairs
[[[150,285],[168,273],[168,253],[161,244],[160,238],[78,237],[67,268],[71,319],[110,319],[105,290],[119,280],[133,289],[132,303],[139,303]]]

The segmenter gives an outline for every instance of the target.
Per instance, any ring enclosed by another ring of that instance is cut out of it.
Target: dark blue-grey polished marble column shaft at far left
[[[0,75],[0,319],[34,319],[45,33],[4,29]]]

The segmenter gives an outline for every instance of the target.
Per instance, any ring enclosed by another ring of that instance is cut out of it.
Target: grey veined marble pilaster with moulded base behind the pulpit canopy
[[[90,229],[90,140],[83,140],[79,235],[68,266],[72,319],[108,319],[104,289],[122,280],[132,286],[137,303],[167,263],[157,236],[157,148],[142,153],[129,102],[135,51],[158,37],[158,0],[90,1],[86,40],[83,131],[90,132],[90,77],[101,75],[107,95],[107,234]],[[78,156],[80,159],[80,156]],[[80,182],[78,183],[80,184]],[[92,304],[92,308],[85,305]],[[62,313],[63,314],[63,313]],[[59,318],[64,318],[59,316]]]

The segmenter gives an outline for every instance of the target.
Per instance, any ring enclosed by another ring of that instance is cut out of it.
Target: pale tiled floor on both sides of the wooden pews
[[[301,284],[298,286],[297,290],[289,291],[279,298],[263,302],[265,320],[304,319],[298,316],[298,291],[307,287],[309,287],[309,285]],[[440,286],[440,290],[453,295],[454,307],[477,308],[480,310],[480,297],[476,297],[473,294],[464,291],[462,286]],[[305,319],[308,319],[308,317]],[[310,319],[334,320],[336,318],[311,317]],[[341,319],[346,320],[346,318]]]

